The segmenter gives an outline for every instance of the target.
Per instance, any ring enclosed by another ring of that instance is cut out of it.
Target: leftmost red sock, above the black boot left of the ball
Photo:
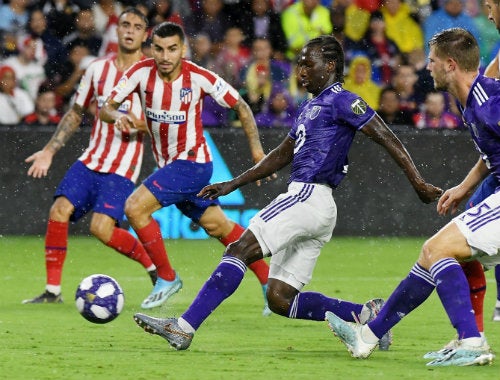
[[[47,285],[61,285],[62,269],[68,247],[68,222],[49,219],[45,234]]]

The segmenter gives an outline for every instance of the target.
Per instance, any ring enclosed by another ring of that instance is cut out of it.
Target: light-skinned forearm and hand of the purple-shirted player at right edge
[[[467,173],[462,182],[446,190],[439,198],[437,204],[437,212],[440,215],[446,215],[448,212],[454,214],[458,210],[458,206],[465,199],[472,195],[474,189],[479,183],[488,176],[489,170],[486,164],[479,158],[477,163]]]

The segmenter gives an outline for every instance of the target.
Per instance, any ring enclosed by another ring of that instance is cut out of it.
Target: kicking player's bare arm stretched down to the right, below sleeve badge
[[[403,169],[422,202],[430,203],[439,198],[443,190],[425,182],[403,143],[379,115],[376,114],[361,131],[387,150],[398,166]]]

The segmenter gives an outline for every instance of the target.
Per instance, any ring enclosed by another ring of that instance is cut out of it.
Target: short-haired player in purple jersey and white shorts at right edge
[[[427,69],[436,90],[448,91],[460,104],[463,119],[480,152],[480,159],[462,182],[464,196],[491,173],[500,176],[500,82],[479,74],[479,47],[472,34],[452,28],[429,41]],[[444,194],[438,212],[456,207]],[[465,210],[428,239],[409,275],[398,285],[377,317],[364,326],[345,321],[328,311],[330,328],[351,355],[368,357],[381,338],[404,316],[421,305],[436,289],[458,341],[446,354],[427,363],[431,367],[483,365],[493,361],[479,333],[469,286],[459,262],[476,259],[483,265],[500,263],[500,192]]]

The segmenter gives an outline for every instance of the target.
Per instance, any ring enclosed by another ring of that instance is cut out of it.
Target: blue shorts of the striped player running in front
[[[210,183],[213,164],[187,160],[174,162],[156,170],[143,182],[163,207],[175,205],[184,215],[198,223],[205,210],[219,205],[218,200],[196,196]]]

